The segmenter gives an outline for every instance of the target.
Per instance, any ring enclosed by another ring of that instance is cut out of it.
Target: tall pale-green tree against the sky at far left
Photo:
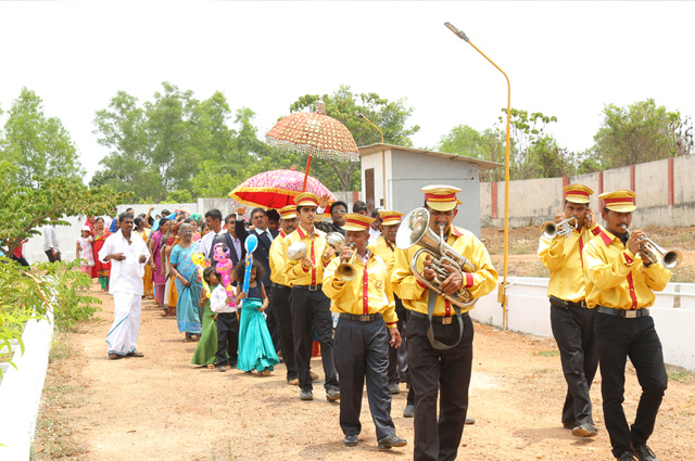
[[[61,120],[46,117],[41,98],[26,88],[12,103],[0,151],[17,166],[15,178],[24,184],[36,185],[40,177],[81,179],[85,175]]]

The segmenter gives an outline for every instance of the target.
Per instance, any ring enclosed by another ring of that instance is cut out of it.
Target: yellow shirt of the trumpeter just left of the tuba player
[[[389,328],[399,321],[395,302],[389,280],[387,265],[379,256],[369,252],[367,259],[367,286],[365,286],[365,265],[359,256],[355,258],[355,278],[349,282],[336,278],[340,258],[333,258],[324,271],[324,293],[331,298],[330,310],[355,316],[380,312]],[[365,296],[366,292],[366,296]]]

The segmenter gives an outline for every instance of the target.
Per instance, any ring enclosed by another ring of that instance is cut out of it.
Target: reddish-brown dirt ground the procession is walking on
[[[495,259],[501,257],[496,255],[501,234],[483,230]],[[526,228],[513,235],[514,242],[523,242],[527,235],[530,243],[518,245],[531,247],[539,233],[536,228]],[[667,238],[665,233],[660,241]],[[685,239],[678,244],[693,249]],[[532,261],[533,255],[528,254],[532,252],[514,255],[526,259],[518,261],[518,274]],[[359,445],[346,448],[339,406],[323,398],[323,381],[315,383],[314,401],[301,401],[299,389],[287,384],[282,364],[269,377],[191,366],[195,344],[184,342],[175,319],[161,317],[153,302],[143,302],[142,309],[138,348],[146,357],[109,360],[104,337],[113,318],[112,298],[97,285],[91,292],[103,300],[103,310],[77,333],[61,336],[72,351],[49,367],[35,460],[413,459],[413,420],[402,417],[404,384],[402,393],[393,396],[391,414],[408,446],[377,450],[365,398]],[[591,390],[598,436],[572,437],[560,424],[566,386],[555,342],[483,324],[475,328],[469,415],[476,423],[465,428],[458,459],[612,459],[603,424],[601,375]],[[320,359],[312,363],[323,379]],[[695,382],[692,374],[674,376],[679,381],[669,382],[649,446],[662,461],[690,461],[695,446]],[[632,420],[640,387],[630,366],[626,388],[624,408]]]

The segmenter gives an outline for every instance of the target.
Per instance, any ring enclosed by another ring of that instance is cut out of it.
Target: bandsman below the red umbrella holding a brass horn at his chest
[[[314,227],[318,196],[304,192],[294,197],[300,225],[282,241],[283,259],[287,261],[287,280],[290,292],[292,335],[294,337],[294,359],[300,379],[300,398],[313,400],[312,343],[314,332],[321,346],[321,361],[326,381],[326,398],[336,401],[340,398],[338,376],[333,364],[333,321],[330,315],[330,302],[321,291],[324,268],[328,266],[336,249],[326,243],[326,233]],[[306,253],[300,259],[292,259],[288,248],[294,242],[302,242]]]

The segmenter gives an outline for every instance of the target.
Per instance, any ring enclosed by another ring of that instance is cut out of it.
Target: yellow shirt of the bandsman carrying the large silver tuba
[[[491,293],[497,284],[497,271],[492,266],[488,249],[482,242],[469,231],[452,226],[452,232],[446,239],[446,243],[476,267],[475,272],[463,273],[464,287],[468,290],[472,297],[479,298]],[[407,309],[427,313],[427,286],[420,283],[410,271],[410,260],[419,248],[421,248],[420,245],[410,246],[408,249],[396,248],[391,285],[393,286],[393,292],[403,300],[403,305]],[[424,259],[425,255],[422,254],[418,257],[416,265],[420,273],[422,273]],[[472,308],[473,306],[469,306],[462,309],[462,311],[467,312]],[[450,303],[438,296],[433,315],[441,317],[454,313],[455,311]]]

